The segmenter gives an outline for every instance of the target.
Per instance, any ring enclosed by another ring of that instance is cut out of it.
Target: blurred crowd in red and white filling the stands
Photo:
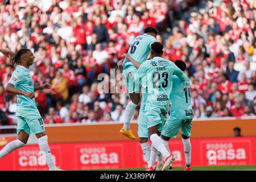
[[[121,94],[99,92],[97,76],[111,69],[121,73],[117,61],[147,26],[158,28],[164,57],[187,64],[195,118],[256,114],[256,0],[205,1],[189,14],[200,1],[0,0],[0,5],[0,48],[31,49],[34,84],[53,85],[35,92],[45,123],[122,122],[130,101],[126,88]],[[5,92],[13,70],[0,54],[2,125],[15,122],[16,97]]]

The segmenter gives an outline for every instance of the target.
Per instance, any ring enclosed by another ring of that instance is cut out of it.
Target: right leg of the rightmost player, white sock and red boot
[[[185,155],[185,162],[186,167],[185,171],[191,171],[191,142],[190,142],[190,136],[191,136],[191,129],[192,129],[192,119],[188,119],[188,122],[183,123],[181,126],[181,139],[183,142],[184,147],[184,155]]]

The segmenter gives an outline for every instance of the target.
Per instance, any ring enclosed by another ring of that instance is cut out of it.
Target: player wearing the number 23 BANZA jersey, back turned
[[[163,122],[167,117],[170,104],[169,97],[172,90],[172,75],[176,75],[183,81],[188,77],[170,60],[163,59],[162,55],[163,45],[160,42],[153,43],[151,45],[150,60],[144,61],[140,65],[134,77],[134,84],[138,88],[142,82],[142,87],[146,89],[145,110],[148,136],[152,142],[151,155],[154,148],[161,152],[164,158],[162,170],[167,170],[175,158],[164,147],[162,139],[158,136],[158,131],[162,131]],[[150,166],[147,170],[152,169],[153,166]]]

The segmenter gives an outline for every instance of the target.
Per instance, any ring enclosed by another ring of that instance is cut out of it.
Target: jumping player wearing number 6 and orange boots
[[[158,35],[158,30],[154,27],[146,27],[144,29],[144,34],[137,36],[131,43],[127,54],[131,56],[138,63],[143,63],[150,53],[150,46],[152,43],[156,42],[156,35]],[[123,78],[125,79],[127,92],[131,98],[131,101],[127,104],[125,108],[124,124],[122,129],[119,131],[120,134],[125,135],[130,139],[135,139],[132,131],[130,130],[131,117],[137,105],[140,101],[139,88],[136,90],[133,84],[134,74],[137,72],[137,68],[129,59],[124,60],[123,65]]]

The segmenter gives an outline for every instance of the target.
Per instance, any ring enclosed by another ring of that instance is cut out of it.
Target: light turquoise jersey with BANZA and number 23
[[[142,82],[143,88],[146,88],[147,105],[163,106],[170,103],[172,75],[183,81],[188,78],[172,61],[162,57],[154,57],[141,64],[134,82],[135,86]]]

